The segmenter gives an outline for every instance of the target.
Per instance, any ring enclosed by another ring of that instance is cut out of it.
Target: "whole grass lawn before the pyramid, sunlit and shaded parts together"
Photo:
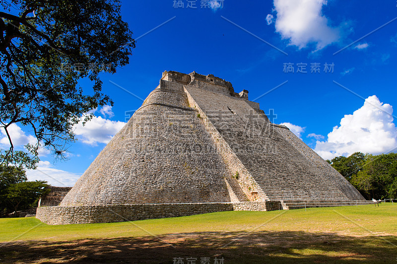
[[[397,263],[397,204],[51,226],[0,219],[0,263]],[[192,263],[192,262],[190,262]]]

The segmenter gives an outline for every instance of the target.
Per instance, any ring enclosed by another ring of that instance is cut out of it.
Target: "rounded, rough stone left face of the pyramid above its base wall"
[[[230,201],[226,166],[183,85],[161,80],[61,205]]]

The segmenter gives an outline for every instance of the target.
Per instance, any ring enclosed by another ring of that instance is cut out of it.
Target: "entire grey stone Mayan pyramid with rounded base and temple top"
[[[248,91],[211,74],[165,71],[60,206],[40,207],[37,217],[112,222],[294,200],[365,202],[300,138],[272,124]]]

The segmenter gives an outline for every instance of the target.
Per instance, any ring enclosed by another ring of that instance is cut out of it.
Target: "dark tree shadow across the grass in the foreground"
[[[385,239],[387,241],[385,241]],[[0,263],[394,263],[397,236],[351,237],[293,231],[194,232],[157,237],[0,244]],[[171,245],[170,245],[171,244]]]

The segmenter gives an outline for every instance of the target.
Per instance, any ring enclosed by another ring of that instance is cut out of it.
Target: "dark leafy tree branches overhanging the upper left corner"
[[[9,126],[33,131],[40,147],[63,157],[75,141],[73,125],[111,99],[101,92],[100,72],[129,63],[132,32],[118,0],[8,0],[0,12],[0,129],[13,155]],[[14,10],[18,11],[15,12]],[[78,84],[88,78],[92,89]],[[36,160],[37,161],[37,160]],[[6,162],[2,162],[6,164]]]

